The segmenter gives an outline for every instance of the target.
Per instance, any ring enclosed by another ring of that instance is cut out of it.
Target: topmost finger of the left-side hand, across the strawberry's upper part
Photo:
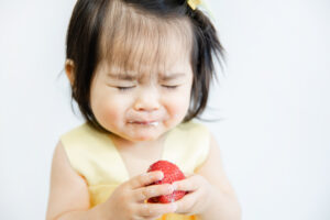
[[[139,176],[133,177],[129,182],[129,184],[132,189],[135,189],[135,188],[151,185],[163,178],[164,178],[163,172],[150,172],[150,173],[141,174]]]

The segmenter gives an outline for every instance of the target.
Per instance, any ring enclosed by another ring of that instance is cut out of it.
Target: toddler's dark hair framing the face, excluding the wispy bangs
[[[161,22],[175,23],[185,20],[189,24],[194,80],[190,107],[184,122],[198,118],[207,106],[210,82],[216,77],[215,59],[220,64],[224,59],[224,50],[217,31],[204,12],[193,10],[186,0],[78,0],[67,30],[66,58],[72,59],[75,67],[72,98],[78,103],[87,122],[100,131],[107,131],[91,111],[90,85],[97,65],[105,56],[101,45],[105,29],[112,29],[112,35],[108,36],[110,38],[120,32],[121,28],[117,25],[119,20],[116,15],[122,15],[123,10]],[[107,22],[109,18],[113,20],[112,26]]]

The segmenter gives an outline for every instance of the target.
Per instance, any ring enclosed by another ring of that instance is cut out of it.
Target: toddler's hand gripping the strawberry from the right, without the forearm
[[[206,210],[211,200],[213,187],[201,175],[193,174],[184,180],[173,183],[175,190],[184,190],[188,194],[175,201],[175,212],[182,215],[196,215]]]

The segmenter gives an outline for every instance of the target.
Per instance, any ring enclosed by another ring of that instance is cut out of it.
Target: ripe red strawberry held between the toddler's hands
[[[163,172],[164,178],[162,180],[153,183],[152,185],[172,184],[174,182],[185,179],[185,175],[183,174],[183,172],[175,164],[167,161],[158,161],[152,164],[147,169],[147,172],[155,172],[155,170]],[[170,195],[150,198],[147,201],[152,204],[157,204],[157,202],[168,204],[183,198],[185,195],[186,191],[174,191]]]

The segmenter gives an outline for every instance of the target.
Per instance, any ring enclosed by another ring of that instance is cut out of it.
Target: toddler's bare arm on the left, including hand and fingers
[[[160,172],[139,175],[121,184],[110,198],[92,209],[85,179],[70,166],[62,143],[55,148],[46,220],[156,219],[173,212],[172,204],[144,204],[148,198],[172,194],[170,185],[152,185]]]

